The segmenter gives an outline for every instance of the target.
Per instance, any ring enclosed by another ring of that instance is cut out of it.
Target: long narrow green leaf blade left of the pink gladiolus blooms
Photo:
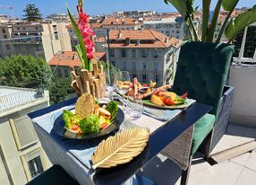
[[[72,13],[70,12],[69,10],[69,7],[68,5],[66,5],[67,7],[67,11],[68,11],[68,14],[69,14],[69,17],[70,17],[70,20],[72,22],[72,25],[73,25],[73,29],[76,33],[76,36],[79,40],[79,45],[80,45],[80,48],[81,48],[81,53],[78,53],[80,56],[80,58],[83,58],[83,60],[81,60],[81,63],[82,63],[82,66],[84,69],[89,69],[89,61],[88,61],[88,57],[87,57],[87,54],[86,54],[86,48],[85,48],[85,44],[84,44],[84,41],[83,41],[83,38],[81,36],[81,32],[80,30],[78,29],[77,25],[76,25],[76,22],[74,21],[73,19],[73,15]]]

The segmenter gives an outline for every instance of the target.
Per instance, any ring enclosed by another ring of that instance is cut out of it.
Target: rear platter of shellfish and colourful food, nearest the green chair
[[[129,99],[132,96],[136,98],[141,95],[143,104],[150,107],[175,110],[184,109],[188,106],[188,94],[177,95],[170,91],[170,85],[156,87],[157,83],[152,81],[149,84],[141,84],[137,78],[134,78],[132,83],[118,81],[117,85],[119,89],[129,86],[129,92],[125,94],[125,97]]]

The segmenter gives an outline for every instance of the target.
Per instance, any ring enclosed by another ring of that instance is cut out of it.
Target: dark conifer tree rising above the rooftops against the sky
[[[25,13],[23,15],[25,17],[24,20],[28,22],[38,22],[42,20],[42,14],[35,4],[27,4],[23,12]]]

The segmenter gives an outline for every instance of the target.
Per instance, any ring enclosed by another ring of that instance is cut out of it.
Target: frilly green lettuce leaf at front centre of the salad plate
[[[95,114],[91,115],[88,118],[81,119],[81,121],[79,122],[79,127],[81,128],[83,134],[98,132],[99,126],[99,118]]]

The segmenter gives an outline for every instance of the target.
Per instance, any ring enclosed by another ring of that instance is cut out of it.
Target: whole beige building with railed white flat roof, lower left
[[[0,86],[1,185],[26,184],[51,166],[27,116],[48,104],[47,91]]]

